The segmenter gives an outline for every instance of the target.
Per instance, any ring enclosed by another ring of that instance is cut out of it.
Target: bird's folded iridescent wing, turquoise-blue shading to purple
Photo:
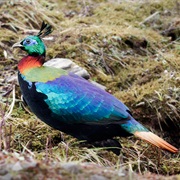
[[[111,124],[129,119],[129,109],[121,101],[74,74],[35,85],[47,96],[45,102],[54,116],[66,123]]]

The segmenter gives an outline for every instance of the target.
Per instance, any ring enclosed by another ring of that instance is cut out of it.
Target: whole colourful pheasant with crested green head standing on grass
[[[114,137],[134,135],[160,149],[178,152],[135,120],[129,108],[112,94],[72,72],[44,66],[43,37],[52,31],[52,26],[43,21],[37,35],[12,46],[27,53],[18,63],[18,81],[25,102],[40,120],[99,147],[120,149]],[[114,152],[119,154],[119,150]]]

